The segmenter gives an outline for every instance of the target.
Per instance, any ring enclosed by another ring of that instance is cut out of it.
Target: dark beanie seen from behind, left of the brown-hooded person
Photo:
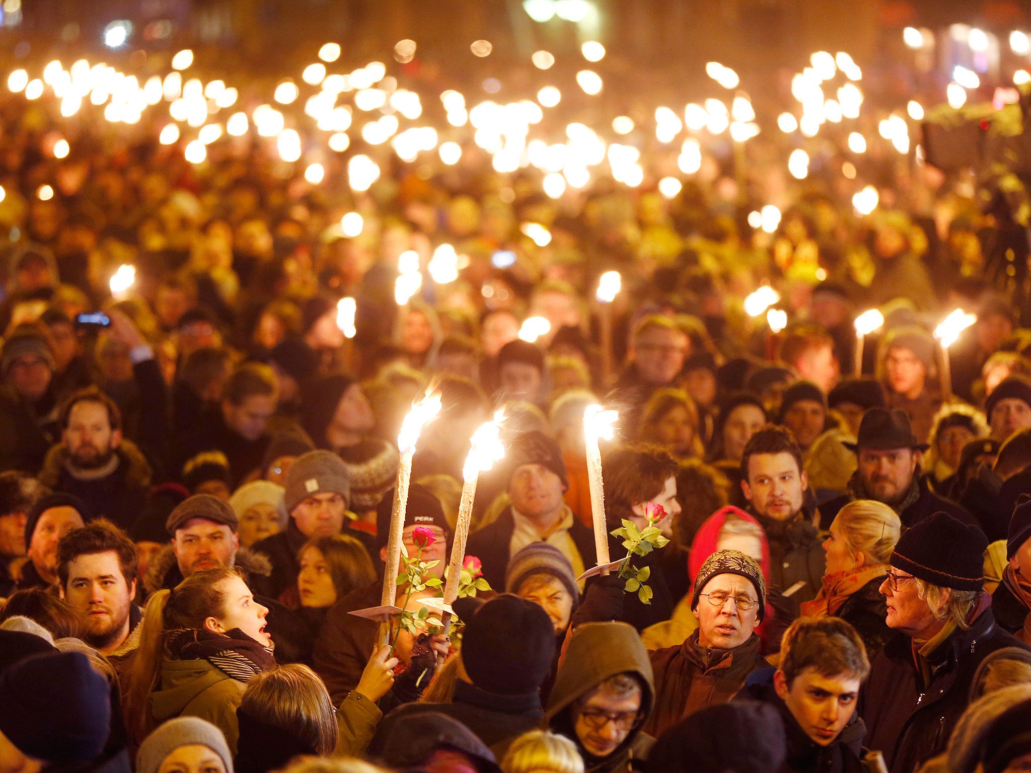
[[[506,696],[540,690],[555,657],[555,627],[539,605],[502,594],[486,603],[459,599],[454,607],[465,624],[462,665],[473,684]]]

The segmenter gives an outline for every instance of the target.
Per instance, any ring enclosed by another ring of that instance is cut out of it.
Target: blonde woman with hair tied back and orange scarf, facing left
[[[803,615],[833,614],[851,623],[870,658],[892,635],[885,623],[885,597],[878,589],[901,529],[899,516],[880,502],[857,499],[842,507],[824,540],[827,568],[823,587],[817,598],[801,606]]]

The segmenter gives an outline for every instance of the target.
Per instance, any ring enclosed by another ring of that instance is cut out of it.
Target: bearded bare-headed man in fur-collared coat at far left
[[[123,437],[122,412],[96,386],[79,390],[60,412],[61,442],[46,455],[39,481],[78,497],[94,516],[132,526],[151,489],[151,465]]]

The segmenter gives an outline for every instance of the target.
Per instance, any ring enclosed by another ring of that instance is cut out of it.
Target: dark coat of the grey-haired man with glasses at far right
[[[885,754],[891,773],[912,773],[939,754],[969,703],[970,683],[985,658],[1002,647],[1027,649],[985,609],[967,631],[957,630],[929,659],[933,672],[922,688],[912,640],[896,634],[873,659],[860,693],[866,745]]]

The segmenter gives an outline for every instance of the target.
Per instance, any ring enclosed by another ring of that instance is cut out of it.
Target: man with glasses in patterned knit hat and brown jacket
[[[753,671],[769,664],[756,626],[766,607],[766,580],[755,559],[717,550],[698,570],[691,609],[697,630],[679,646],[652,652],[656,705],[644,732],[658,737],[695,711],[729,701]]]

